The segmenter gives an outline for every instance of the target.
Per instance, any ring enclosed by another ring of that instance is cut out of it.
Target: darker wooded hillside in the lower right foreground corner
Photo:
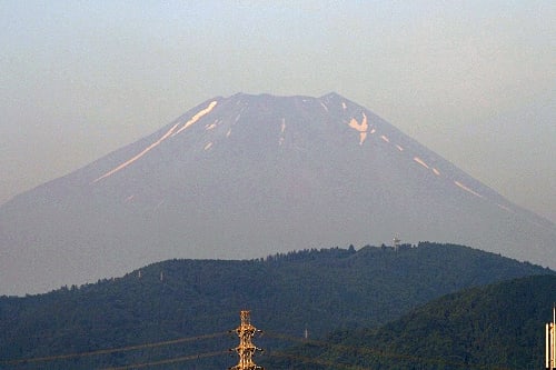
[[[338,331],[290,349],[270,369],[540,369],[556,277],[536,276],[448,294],[378,329]],[[300,357],[310,358],[302,363]],[[324,363],[325,366],[319,366]],[[347,368],[347,367],[346,367]]]

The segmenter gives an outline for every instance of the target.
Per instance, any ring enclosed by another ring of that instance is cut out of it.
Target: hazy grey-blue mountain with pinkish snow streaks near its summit
[[[556,227],[336,93],[214,98],[0,207],[0,293],[394,237],[556,267]]]

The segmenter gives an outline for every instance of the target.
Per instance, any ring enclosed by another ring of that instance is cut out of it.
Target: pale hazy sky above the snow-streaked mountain
[[[0,203],[215,96],[336,91],[556,221],[556,1],[0,0]]]

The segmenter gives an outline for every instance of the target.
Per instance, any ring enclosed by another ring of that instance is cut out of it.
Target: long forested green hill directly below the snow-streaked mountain
[[[319,338],[335,329],[377,327],[464,288],[546,273],[552,271],[429,242],[397,251],[350,247],[244,261],[169,260],[95,284],[0,298],[0,368],[40,369],[40,361],[12,360],[220,333],[237,327],[241,309],[251,310],[259,329],[300,337],[307,328],[310,338]],[[230,338],[199,340],[178,349],[57,359],[48,366],[102,368],[234,344]],[[226,356],[210,361],[215,368],[232,364]]]

